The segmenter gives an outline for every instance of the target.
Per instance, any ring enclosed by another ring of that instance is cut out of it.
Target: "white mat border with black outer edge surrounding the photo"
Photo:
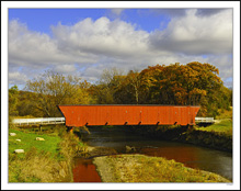
[[[94,5],[93,5],[94,4]],[[8,9],[9,8],[232,8],[233,9],[233,183],[8,183]],[[240,1],[2,1],[1,2],[1,186],[3,190],[239,190],[240,189]]]

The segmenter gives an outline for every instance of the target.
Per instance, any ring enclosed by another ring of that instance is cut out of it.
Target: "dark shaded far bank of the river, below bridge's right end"
[[[232,153],[232,136],[220,132],[205,132],[186,126],[129,126],[135,133],[164,141],[194,144]]]

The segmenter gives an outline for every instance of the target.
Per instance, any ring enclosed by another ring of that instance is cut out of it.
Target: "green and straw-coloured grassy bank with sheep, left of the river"
[[[10,127],[9,133],[16,135],[9,136],[9,182],[72,182],[72,157],[82,144],[65,130],[34,133]],[[15,154],[14,149],[24,153]]]

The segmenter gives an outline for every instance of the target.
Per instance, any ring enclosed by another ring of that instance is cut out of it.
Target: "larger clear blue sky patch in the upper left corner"
[[[58,22],[71,25],[85,18],[96,20],[105,13],[104,9],[10,9],[9,20],[16,19],[26,23],[31,31],[50,34],[50,25]]]

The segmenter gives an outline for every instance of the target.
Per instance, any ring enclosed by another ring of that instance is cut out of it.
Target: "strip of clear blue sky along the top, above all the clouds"
[[[113,9],[112,9],[113,10]],[[136,23],[141,30],[151,32],[156,29],[167,27],[170,16],[165,13],[156,13],[149,9],[126,9],[122,14],[115,14],[111,9],[10,9],[9,20],[19,20],[26,23],[28,30],[51,34],[50,25],[59,22],[72,25],[85,18],[97,20],[108,16],[111,21],[122,19],[123,21]],[[160,24],[162,23],[162,24]]]

